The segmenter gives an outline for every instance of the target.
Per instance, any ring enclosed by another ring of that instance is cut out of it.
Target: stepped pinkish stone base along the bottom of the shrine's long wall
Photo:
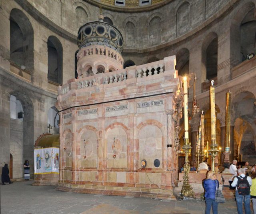
[[[102,194],[112,196],[130,196],[138,198],[143,197],[176,200],[176,197],[173,195],[172,186],[159,186],[160,188],[158,188],[158,186],[154,184],[146,185],[145,187],[142,186],[99,186],[59,183],[56,190],[85,194]]]

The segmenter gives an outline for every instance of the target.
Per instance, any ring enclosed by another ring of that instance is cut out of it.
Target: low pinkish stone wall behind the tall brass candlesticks
[[[196,171],[190,171],[188,173],[189,184],[192,187],[196,198],[202,198],[203,196],[202,195],[202,193],[204,193],[203,180],[206,179],[206,172],[196,173]],[[175,187],[174,189],[174,195],[176,196],[177,199],[180,198],[180,193],[183,185],[183,176],[184,176],[184,172],[180,172],[178,187]],[[220,189],[222,189],[223,183],[222,183],[221,174],[217,174],[217,180],[219,181]]]

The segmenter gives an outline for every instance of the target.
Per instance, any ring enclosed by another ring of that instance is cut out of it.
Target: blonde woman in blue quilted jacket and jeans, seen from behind
[[[211,208],[213,214],[218,214],[218,202],[215,201],[216,183],[219,187],[219,181],[213,171],[209,171],[204,180],[204,198],[206,203],[205,214],[210,214]]]

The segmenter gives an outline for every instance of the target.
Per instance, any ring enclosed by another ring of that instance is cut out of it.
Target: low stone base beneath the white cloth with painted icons
[[[35,182],[32,186],[51,186],[58,185],[59,174],[35,174]]]

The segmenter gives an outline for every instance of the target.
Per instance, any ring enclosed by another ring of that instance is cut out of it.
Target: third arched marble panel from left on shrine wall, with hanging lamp
[[[103,156],[106,168],[128,168],[129,141],[129,129],[123,123],[114,122],[105,128]]]

